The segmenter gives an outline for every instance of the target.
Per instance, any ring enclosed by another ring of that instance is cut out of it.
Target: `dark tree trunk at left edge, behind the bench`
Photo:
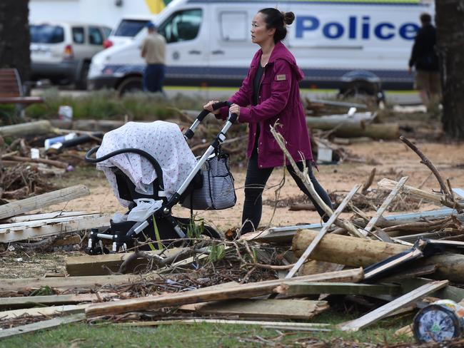
[[[29,80],[29,0],[0,1],[0,68],[16,68]]]

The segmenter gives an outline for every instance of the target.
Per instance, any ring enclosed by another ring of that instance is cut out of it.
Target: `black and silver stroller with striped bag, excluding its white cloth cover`
[[[222,101],[214,104],[213,108],[217,110],[225,106],[230,107],[231,103]],[[183,136],[181,135],[181,138],[185,138],[185,140],[193,138],[196,128],[208,113],[206,110],[201,111],[190,128],[183,133]],[[148,153],[140,148],[119,148],[99,158],[92,158],[100,146],[89,150],[85,157],[89,163],[104,163],[104,161],[109,163],[107,160],[115,160],[115,156],[118,155],[118,158],[121,158],[122,154],[124,154],[123,157],[125,155],[140,156],[141,160],[148,160],[149,165],[154,170],[154,173],[151,171],[151,174],[155,179],[146,185],[148,190],[143,192],[138,190],[136,184],[131,180],[131,175],[128,175],[127,170],[125,170],[127,168],[123,168],[121,165],[109,165],[108,170],[111,171],[111,178],[114,178],[115,194],[117,193],[120,201],[128,203],[128,211],[124,215],[114,215],[110,220],[110,226],[104,230],[92,229],[86,253],[89,255],[109,253],[110,251],[103,240],[111,241],[111,252],[133,247],[137,244],[136,240],[142,243],[153,242],[144,243],[145,249],[153,247],[161,249],[167,245],[179,245],[182,239],[188,235],[188,230],[192,227],[192,220],[174,217],[171,214],[174,205],[180,203],[183,207],[190,208],[191,218],[193,210],[218,210],[231,208],[235,205],[236,195],[229,168],[228,154],[222,152],[221,143],[226,139],[226,133],[236,119],[236,114],[229,113],[226,124],[216,135],[206,152],[201,155],[201,158],[194,160],[191,170],[186,173],[186,178],[179,181],[180,185],[176,190],[172,190],[170,195],[166,193],[166,176],[163,178],[163,168],[156,160],[156,154]],[[177,131],[180,133],[178,127]],[[181,139],[181,142],[183,141],[184,139]],[[102,147],[103,145],[104,142],[102,142]],[[188,151],[191,154],[189,148]],[[193,154],[191,155],[193,156]],[[106,176],[109,178],[108,174]],[[202,225],[200,232],[211,238],[221,238],[221,235],[208,225]]]

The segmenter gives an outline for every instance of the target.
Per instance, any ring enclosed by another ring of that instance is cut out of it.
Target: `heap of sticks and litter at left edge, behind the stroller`
[[[99,143],[102,136],[56,128],[45,120],[0,127],[0,198],[19,200],[56,190],[51,178],[84,162],[76,146]]]

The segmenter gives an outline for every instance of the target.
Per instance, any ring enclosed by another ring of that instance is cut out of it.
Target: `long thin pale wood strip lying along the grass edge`
[[[231,325],[257,325],[264,328],[276,328],[276,329],[305,329],[307,331],[332,331],[331,324],[321,324],[313,322],[264,322],[264,321],[253,321],[253,320],[224,320],[224,319],[181,319],[181,320],[158,320],[153,322],[124,322],[118,324],[119,326],[129,327],[150,327],[158,325],[169,325],[169,324],[231,324]]]

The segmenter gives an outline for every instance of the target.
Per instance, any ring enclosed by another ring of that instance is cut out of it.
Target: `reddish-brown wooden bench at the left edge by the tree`
[[[44,99],[24,96],[23,84],[16,69],[0,69],[0,104],[33,103],[44,103]]]

